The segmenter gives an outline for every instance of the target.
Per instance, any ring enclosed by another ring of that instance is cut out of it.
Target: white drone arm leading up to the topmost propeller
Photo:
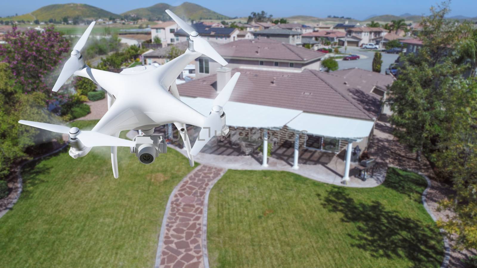
[[[169,86],[176,81],[177,76],[186,68],[187,64],[194,61],[202,55],[199,52],[192,52],[187,49],[187,51],[175,58],[174,60],[167,62],[166,64],[160,66],[154,72],[150,72],[151,75],[159,74],[160,83],[165,87]]]

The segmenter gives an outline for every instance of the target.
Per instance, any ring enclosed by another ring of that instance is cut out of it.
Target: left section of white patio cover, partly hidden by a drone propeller
[[[212,109],[212,99],[181,97],[180,100],[206,116]],[[281,128],[303,111],[228,102],[224,106],[224,112],[227,116],[227,124],[230,126]]]

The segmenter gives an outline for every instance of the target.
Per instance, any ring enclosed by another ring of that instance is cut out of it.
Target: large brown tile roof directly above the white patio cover
[[[362,95],[366,95],[362,90],[350,92],[359,94],[359,97],[354,98],[334,84],[334,81],[340,79],[343,83],[343,78],[338,75],[330,78],[330,74],[308,69],[301,72],[280,72],[237,68],[231,74],[235,72],[241,72],[241,75],[230,101],[364,120],[375,117],[364,108],[370,104],[357,103],[357,100],[363,100]],[[216,75],[209,75],[177,87],[181,95],[213,99],[217,96],[216,81]],[[378,98],[369,98],[379,103]]]

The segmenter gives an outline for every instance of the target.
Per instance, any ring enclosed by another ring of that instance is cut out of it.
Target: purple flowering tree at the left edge
[[[0,62],[7,62],[14,76],[15,88],[28,94],[45,93],[48,100],[66,96],[52,96],[52,85],[57,75],[55,67],[61,62],[63,53],[69,52],[70,42],[60,32],[49,26],[45,31],[12,31],[3,35],[5,44],[0,45]]]

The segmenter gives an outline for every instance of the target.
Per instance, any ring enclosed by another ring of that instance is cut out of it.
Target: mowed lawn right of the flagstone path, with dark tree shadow
[[[382,186],[361,189],[229,170],[209,196],[210,267],[440,267],[426,185],[394,168]]]

